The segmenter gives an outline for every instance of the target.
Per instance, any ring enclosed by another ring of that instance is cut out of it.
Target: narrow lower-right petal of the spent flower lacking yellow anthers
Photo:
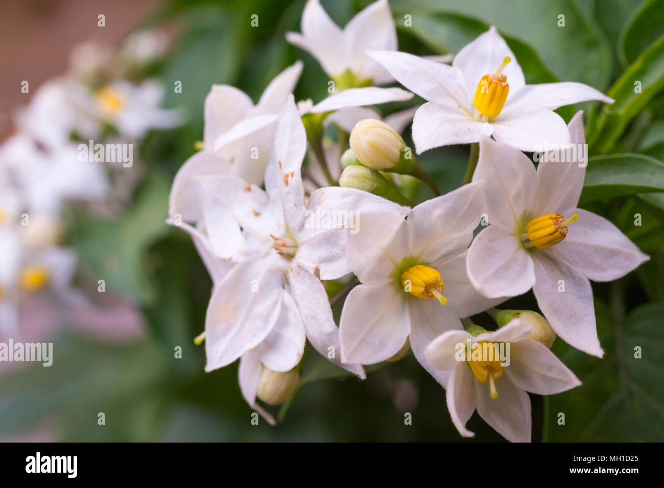
[[[307,339],[323,357],[337,366],[355,374],[361,380],[367,377],[360,365],[341,362],[339,327],[332,317],[325,287],[318,278],[299,266],[292,266],[288,273],[289,289],[297,303]]]

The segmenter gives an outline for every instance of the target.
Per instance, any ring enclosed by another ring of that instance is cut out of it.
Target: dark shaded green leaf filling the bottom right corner
[[[621,291],[622,293],[622,291]],[[552,350],[582,385],[548,397],[552,442],[661,442],[664,440],[664,305],[651,303],[616,321],[596,304],[604,358],[556,340]],[[637,359],[640,348],[641,357]],[[558,424],[560,414],[564,424]]]

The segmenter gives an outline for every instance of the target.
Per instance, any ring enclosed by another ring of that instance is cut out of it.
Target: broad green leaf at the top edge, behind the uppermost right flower
[[[610,82],[611,50],[597,25],[574,0],[512,0],[509,6],[494,0],[392,0],[390,7],[399,14],[413,15],[414,27],[418,11],[464,15],[493,24],[533,46],[560,80],[586,83],[598,90]],[[565,16],[565,27],[558,27],[558,15]],[[402,19],[397,22],[403,24]]]

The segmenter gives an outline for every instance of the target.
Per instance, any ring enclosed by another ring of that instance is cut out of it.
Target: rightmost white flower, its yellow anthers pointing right
[[[582,112],[569,131],[580,150]],[[540,161],[536,171],[521,151],[483,139],[473,180],[490,182],[484,195],[491,225],[470,246],[467,268],[486,297],[533,288],[556,334],[601,357],[588,280],[616,280],[648,257],[606,218],[576,208],[586,173],[583,157],[578,151],[573,162]]]

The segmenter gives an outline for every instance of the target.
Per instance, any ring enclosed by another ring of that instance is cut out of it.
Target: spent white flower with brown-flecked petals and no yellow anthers
[[[339,329],[321,280],[349,272],[347,231],[311,225],[309,208],[329,208],[329,202],[339,210],[363,203],[400,207],[360,191],[336,199],[341,189],[329,188],[314,192],[307,208],[300,174],[306,144],[290,96],[276,123],[266,191],[238,177],[199,181],[212,252],[239,261],[215,286],[208,306],[208,371],[250,350],[266,367],[290,370],[301,358],[305,335],[319,353],[340,364]],[[361,366],[344,367],[364,376]]]

